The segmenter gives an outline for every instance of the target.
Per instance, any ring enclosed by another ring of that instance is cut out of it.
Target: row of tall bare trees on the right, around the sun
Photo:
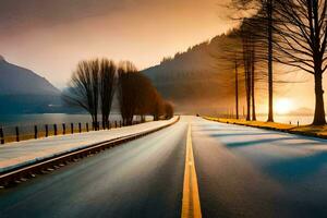
[[[313,124],[326,124],[323,75],[327,70],[327,1],[232,0],[231,7],[241,14],[237,19],[242,22],[231,34],[232,43],[227,45],[222,57],[235,72],[237,117],[239,74],[243,70],[246,120],[256,120],[255,84],[265,80],[268,87],[267,121],[274,121],[274,63],[277,63],[313,75]]]

